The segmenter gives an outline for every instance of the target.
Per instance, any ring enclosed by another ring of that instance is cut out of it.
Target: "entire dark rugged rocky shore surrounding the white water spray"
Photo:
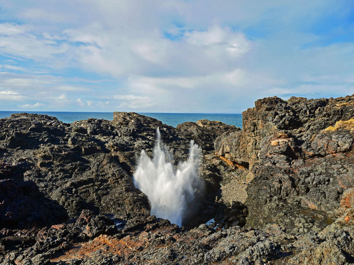
[[[157,127],[174,165],[191,139],[202,149],[205,188],[183,227],[151,216],[133,184]],[[0,264],[349,264],[353,240],[354,95],[259,99],[243,129],[126,112],[0,119]]]

